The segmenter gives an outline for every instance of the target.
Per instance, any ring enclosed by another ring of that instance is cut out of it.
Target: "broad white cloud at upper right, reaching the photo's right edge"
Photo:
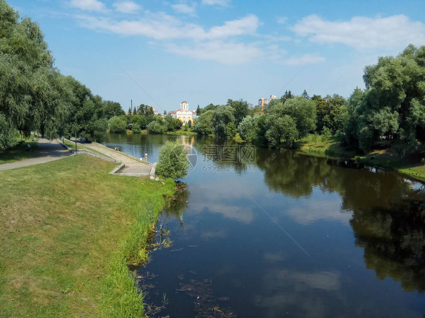
[[[353,17],[349,21],[326,21],[310,15],[292,28],[315,43],[342,43],[358,48],[387,48],[425,42],[425,25],[405,15],[387,18]]]

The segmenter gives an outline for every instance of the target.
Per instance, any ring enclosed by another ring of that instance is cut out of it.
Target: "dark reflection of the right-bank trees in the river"
[[[405,291],[425,290],[424,191],[384,170],[352,174],[344,161],[309,157],[284,149],[257,148],[256,165],[270,190],[308,197],[313,188],[339,193],[341,211],[351,211],[355,244],[364,248],[378,279],[400,281]],[[352,165],[351,165],[352,166]]]

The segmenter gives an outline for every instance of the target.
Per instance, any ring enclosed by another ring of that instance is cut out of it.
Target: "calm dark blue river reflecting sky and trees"
[[[155,162],[174,138],[105,144]],[[424,317],[423,183],[292,150],[183,141],[194,167],[158,224],[172,247],[136,272],[146,304],[168,300],[155,317]]]

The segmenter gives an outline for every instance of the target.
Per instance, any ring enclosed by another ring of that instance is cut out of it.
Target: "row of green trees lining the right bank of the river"
[[[310,98],[304,90],[301,96],[286,91],[263,111],[258,106],[243,112],[225,106],[205,111],[213,108],[207,106],[197,121],[197,131],[218,132],[222,137],[225,125],[234,122],[242,139],[270,146],[282,142],[291,146],[308,133],[317,133],[335,135],[343,145],[363,152],[377,142],[391,146],[400,156],[422,149],[425,46],[409,45],[397,57],[380,57],[376,65],[365,68],[363,79],[366,89],[356,88],[348,99],[338,94]],[[244,112],[250,114],[239,121]]]

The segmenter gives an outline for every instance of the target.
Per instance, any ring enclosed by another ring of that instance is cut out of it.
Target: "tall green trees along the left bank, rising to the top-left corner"
[[[118,103],[102,101],[53,66],[44,35],[31,18],[19,18],[0,0],[0,150],[20,134],[47,138],[77,135],[102,141],[108,118],[124,113]]]

